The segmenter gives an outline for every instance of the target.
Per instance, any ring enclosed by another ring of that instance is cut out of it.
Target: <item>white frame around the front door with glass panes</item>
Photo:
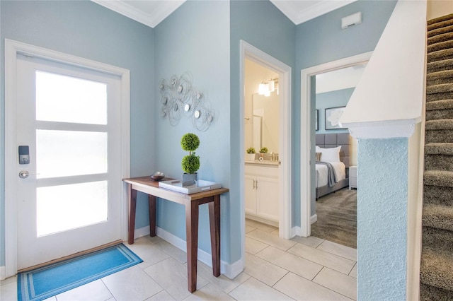
[[[16,66],[17,54],[57,61],[120,77],[121,176],[130,177],[130,71],[23,42],[5,39],[5,277],[17,273],[17,195],[16,195]],[[122,188],[121,239],[127,239],[127,189]]]

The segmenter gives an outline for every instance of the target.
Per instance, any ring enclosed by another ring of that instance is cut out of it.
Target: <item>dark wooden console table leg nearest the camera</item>
[[[187,280],[190,293],[197,290],[198,204],[185,205],[185,239],[187,243]]]

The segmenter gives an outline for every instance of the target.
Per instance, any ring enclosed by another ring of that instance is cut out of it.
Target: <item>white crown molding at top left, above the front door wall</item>
[[[144,11],[136,8],[130,4],[127,4],[126,1],[122,0],[91,0],[96,4],[104,6],[116,11],[117,13],[136,20],[139,23],[143,23],[151,28],[156,27],[162,20],[168,17],[173,11],[176,11],[176,8],[181,6],[185,0],[175,0],[175,1],[160,1],[161,3],[156,6],[156,9],[151,13],[145,13]]]

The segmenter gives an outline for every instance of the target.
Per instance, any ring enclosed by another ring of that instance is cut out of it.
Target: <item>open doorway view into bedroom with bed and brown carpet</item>
[[[365,66],[348,66],[315,76],[315,126],[312,130],[316,137],[316,202],[311,235],[354,249],[357,249],[357,183],[352,182],[352,176],[357,172],[357,141],[348,129],[337,123],[336,113],[348,105]],[[339,158],[329,158],[331,151],[338,148]],[[333,167],[336,183],[327,182],[329,177],[324,173],[328,170],[327,163]]]

